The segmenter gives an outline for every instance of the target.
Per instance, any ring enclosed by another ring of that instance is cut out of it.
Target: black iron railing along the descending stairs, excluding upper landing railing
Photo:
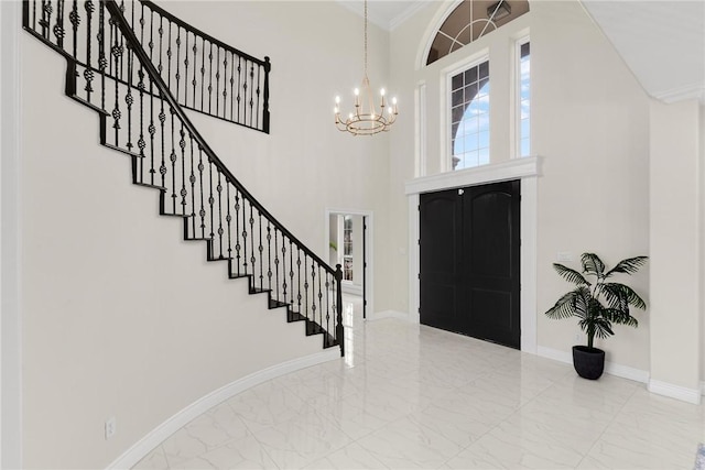
[[[74,28],[68,48],[59,21],[66,4],[72,24],[88,17],[93,25]],[[99,113],[100,143],[130,156],[133,183],[159,190],[160,214],[182,218],[184,239],[204,241],[208,261],[226,261],[229,277],[246,277],[250,294],[267,293],[270,308],[285,307],[289,321],[305,320],[307,335],[323,334],[324,347],[344,354],[340,266],[296,239],[217,157],[140,45],[123,3],[59,0],[52,17],[43,0],[39,20],[31,6],[37,1],[24,1],[24,28],[66,57],[66,94]]]

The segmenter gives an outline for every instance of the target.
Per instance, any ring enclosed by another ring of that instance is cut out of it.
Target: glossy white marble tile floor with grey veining
[[[345,360],[278,378],[135,469],[692,469],[705,406],[346,298]]]

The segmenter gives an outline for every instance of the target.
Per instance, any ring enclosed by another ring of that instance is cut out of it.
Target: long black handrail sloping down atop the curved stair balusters
[[[152,79],[156,88],[160,90],[161,96],[164,98],[164,100],[169,102],[174,113],[178,116],[184,127],[188,130],[191,135],[198,143],[199,149],[202,149],[206,153],[208,161],[212,162],[214,165],[216,165],[218,171],[220,171],[220,173],[225,175],[225,177],[229,181],[229,183],[231,183],[249,200],[251,206],[256,207],[262,216],[264,216],[275,228],[278,228],[283,234],[285,234],[304,253],[306,253],[308,256],[315,260],[316,263],[318,263],[318,265],[321,265],[328,274],[337,278],[339,276],[338,274],[338,272],[340,271],[339,267],[337,270],[334,270],[328,263],[323,261],[321,256],[315,254],[311,249],[308,249],[308,247],[306,247],[296,237],[294,237],[279,220],[276,220],[274,216],[270,214],[269,210],[264,208],[264,206],[262,206],[262,204],[260,204],[250,194],[250,192],[248,192],[245,188],[245,186],[238,181],[238,178],[236,178],[235,175],[232,175],[232,173],[228,170],[228,167],[220,161],[220,159],[218,159],[214,150],[210,149],[210,145],[208,145],[205,139],[196,130],[196,127],[193,124],[191,119],[188,119],[183,108],[181,107],[181,105],[178,105],[178,102],[172,95],[171,90],[162,79],[162,76],[160,75],[159,70],[156,70],[156,67],[154,66],[154,64],[152,64],[152,61],[150,61],[150,58],[148,57],[147,53],[142,48],[140,41],[134,34],[132,26],[130,26],[130,24],[124,19],[124,15],[122,14],[122,11],[120,10],[120,7],[116,2],[116,0],[102,0],[102,1],[106,8],[108,9],[108,12],[112,17],[116,25],[120,29],[121,34],[124,36],[126,41],[130,45],[131,51],[138,57],[138,61],[142,65],[142,67],[147,70],[148,75],[150,76],[150,78]],[[340,308],[340,306],[338,306],[338,308]]]

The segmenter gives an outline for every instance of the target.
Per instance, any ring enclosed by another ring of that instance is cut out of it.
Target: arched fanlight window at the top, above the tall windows
[[[438,29],[426,65],[491,33],[529,11],[528,0],[464,0]]]

